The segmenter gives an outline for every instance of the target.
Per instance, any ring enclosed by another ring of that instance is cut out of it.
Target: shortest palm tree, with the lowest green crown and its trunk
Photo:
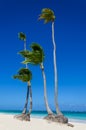
[[[21,120],[28,120],[30,121],[30,114],[31,114],[31,111],[32,111],[32,90],[31,90],[31,84],[30,84],[30,81],[32,79],[32,73],[29,69],[27,68],[22,68],[18,71],[18,74],[17,75],[14,75],[13,76],[14,79],[19,79],[23,82],[27,82],[28,83],[28,96],[29,96],[29,93],[30,93],[30,112],[24,116],[22,116],[22,118],[19,116],[18,118],[21,119]],[[28,97],[26,98],[26,101],[28,102]]]

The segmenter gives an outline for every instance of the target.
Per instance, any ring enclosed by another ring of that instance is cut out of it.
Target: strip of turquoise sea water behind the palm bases
[[[0,110],[0,113],[5,113],[5,114],[20,114],[22,111],[14,111],[14,110]],[[68,117],[69,119],[77,119],[77,120],[84,120],[86,121],[86,112],[63,112],[63,114]],[[46,111],[33,111],[31,116],[32,117],[40,117],[43,118],[44,116],[47,115]]]

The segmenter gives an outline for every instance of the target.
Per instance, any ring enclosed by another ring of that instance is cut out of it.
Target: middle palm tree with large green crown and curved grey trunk
[[[22,54],[24,57],[26,57],[26,60],[23,62],[24,64],[33,64],[33,65],[40,65],[40,68],[42,70],[42,76],[43,76],[43,82],[44,82],[44,101],[45,101],[45,106],[48,112],[48,115],[53,115],[52,110],[49,107],[48,104],[48,99],[47,99],[47,90],[46,90],[46,75],[44,72],[44,52],[42,47],[37,44],[33,43],[31,46],[32,51],[21,51],[20,54]]]

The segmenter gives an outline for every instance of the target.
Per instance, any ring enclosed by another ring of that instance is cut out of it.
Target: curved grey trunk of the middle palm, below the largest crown
[[[43,76],[43,82],[44,82],[44,101],[45,101],[45,106],[46,106],[46,110],[48,112],[48,115],[51,115],[51,114],[53,114],[53,112],[49,108],[49,104],[48,104],[47,90],[46,90],[46,76],[45,76],[45,72],[44,72],[43,63],[40,64],[40,68],[42,70],[42,76]]]

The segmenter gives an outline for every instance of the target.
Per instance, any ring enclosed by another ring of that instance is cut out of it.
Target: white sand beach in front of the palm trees
[[[13,115],[0,114],[0,130],[86,130],[85,123],[72,124],[73,128],[38,118],[31,118],[30,122],[26,122],[15,119]]]

